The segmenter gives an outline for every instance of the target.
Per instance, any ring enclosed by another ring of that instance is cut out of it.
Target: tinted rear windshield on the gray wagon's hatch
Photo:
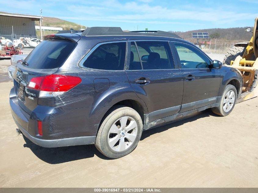
[[[44,40],[25,59],[33,69],[53,69],[62,66],[75,43],[64,40]]]

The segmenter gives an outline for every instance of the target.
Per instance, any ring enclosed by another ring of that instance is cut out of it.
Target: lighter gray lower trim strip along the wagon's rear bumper
[[[56,148],[56,147],[65,147],[65,146],[73,146],[73,145],[89,145],[94,144],[96,140],[96,136],[85,136],[85,137],[75,137],[75,138],[65,138],[65,139],[52,139],[52,140],[44,140],[31,136],[23,127],[14,120],[17,127],[20,129],[22,134],[31,140],[31,142],[45,147],[45,148]]]

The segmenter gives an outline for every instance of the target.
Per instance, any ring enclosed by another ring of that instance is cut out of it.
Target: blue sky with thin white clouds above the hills
[[[258,0],[2,0],[0,11],[39,15],[42,9],[43,16],[88,27],[188,31],[253,26],[257,8]]]

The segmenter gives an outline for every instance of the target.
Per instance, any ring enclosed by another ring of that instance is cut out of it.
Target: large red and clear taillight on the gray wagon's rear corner
[[[50,97],[61,95],[81,82],[80,77],[51,74],[32,78],[28,88],[39,90],[39,97]]]

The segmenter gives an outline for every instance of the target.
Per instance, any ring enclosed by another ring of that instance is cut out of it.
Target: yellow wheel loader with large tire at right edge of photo
[[[251,32],[251,28],[245,31]],[[224,58],[223,65],[237,69],[244,81],[242,95],[238,102],[258,96],[258,17],[255,19],[253,37],[247,43],[235,44]]]

